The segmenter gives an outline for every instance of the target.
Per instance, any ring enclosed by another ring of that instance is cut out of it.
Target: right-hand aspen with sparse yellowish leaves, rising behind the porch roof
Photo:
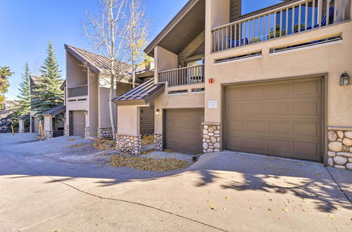
[[[149,18],[146,17],[146,7],[142,0],[128,0],[130,17],[125,25],[125,40],[129,49],[129,59],[132,64],[132,87],[136,86],[136,67],[146,58],[143,52],[149,33]]]

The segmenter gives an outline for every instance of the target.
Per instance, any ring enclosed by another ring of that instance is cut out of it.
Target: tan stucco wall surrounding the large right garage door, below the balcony
[[[343,34],[343,41],[294,49],[289,53],[270,56],[270,48],[300,44]],[[329,126],[352,126],[352,86],[339,86],[339,77],[346,70],[352,74],[352,22],[326,27],[312,32],[276,39],[265,43],[206,54],[206,77],[215,84],[206,84],[206,103],[221,102],[221,84],[249,82],[254,80],[300,77],[327,73],[327,124]],[[214,65],[214,60],[238,56],[252,51],[263,51],[261,58]],[[220,122],[221,108],[205,110],[206,122]]]

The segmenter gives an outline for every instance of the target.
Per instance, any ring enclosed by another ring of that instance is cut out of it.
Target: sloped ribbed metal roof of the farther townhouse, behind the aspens
[[[84,51],[78,49],[74,46],[69,46],[65,44],[65,49],[71,55],[75,56],[82,63],[87,64],[87,66],[92,69],[98,75],[109,75],[110,61],[105,56],[101,56],[89,51]],[[124,79],[130,80],[130,73],[132,73],[132,65],[127,63],[122,63],[115,60],[115,72],[123,77]]]

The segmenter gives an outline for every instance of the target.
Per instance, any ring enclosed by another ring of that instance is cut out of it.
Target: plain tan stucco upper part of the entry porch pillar
[[[145,106],[145,105],[143,105]],[[140,105],[118,106],[118,134],[139,136]]]

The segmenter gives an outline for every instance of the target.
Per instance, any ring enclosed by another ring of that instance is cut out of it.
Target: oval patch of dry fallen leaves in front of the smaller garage
[[[113,155],[111,165],[114,167],[130,167],[144,171],[168,172],[175,169],[188,167],[190,164],[184,160],[175,158],[156,159],[149,157],[132,157],[125,155]]]

